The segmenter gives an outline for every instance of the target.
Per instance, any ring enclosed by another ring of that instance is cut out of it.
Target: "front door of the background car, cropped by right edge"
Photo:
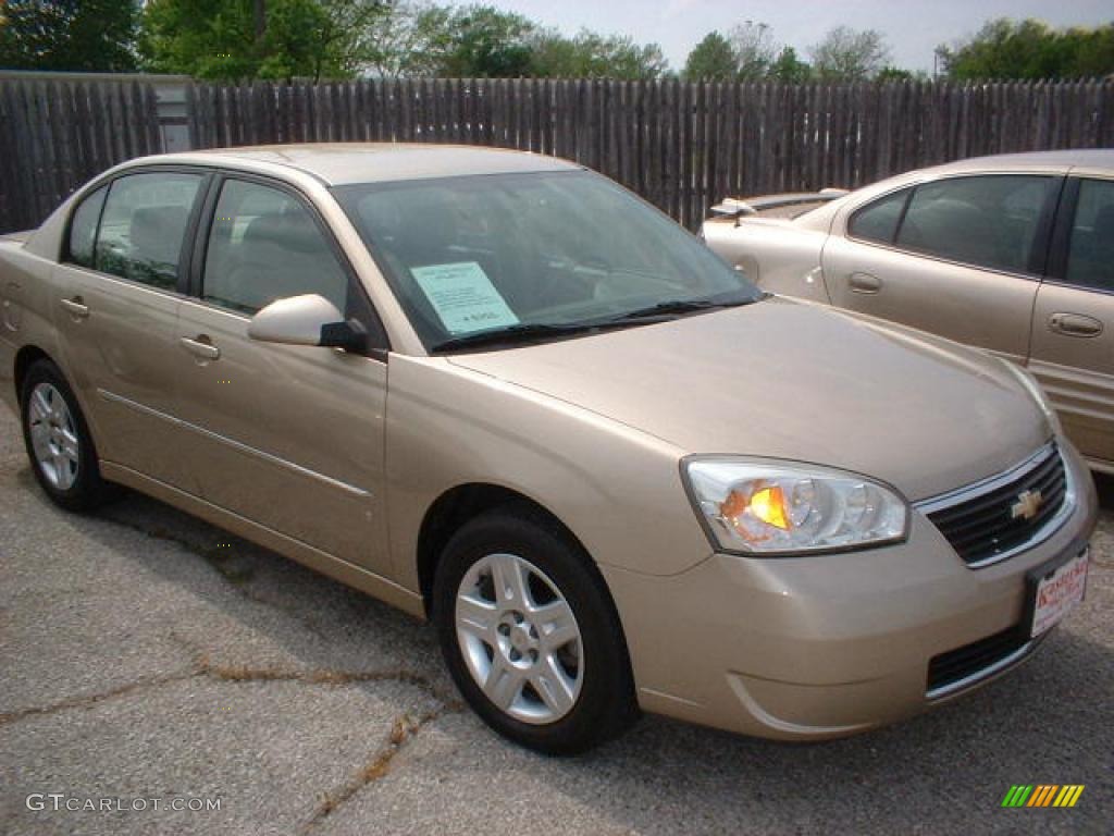
[[[1029,368],[1064,429],[1114,472],[1114,178],[1073,176],[1033,310]]]

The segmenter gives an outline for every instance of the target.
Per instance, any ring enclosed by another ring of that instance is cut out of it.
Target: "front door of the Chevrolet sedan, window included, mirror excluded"
[[[310,204],[229,176],[204,213],[195,295],[178,314],[177,414],[202,496],[226,511],[387,574],[385,351],[248,338],[270,302],[317,293],[385,346],[371,304]]]

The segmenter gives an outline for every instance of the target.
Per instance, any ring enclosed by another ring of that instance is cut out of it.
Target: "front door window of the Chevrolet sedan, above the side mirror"
[[[229,179],[221,189],[202,298],[254,314],[276,299],[317,293],[344,312],[348,275],[310,211],[291,194]]]

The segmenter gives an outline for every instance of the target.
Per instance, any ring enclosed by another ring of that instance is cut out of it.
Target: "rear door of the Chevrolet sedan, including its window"
[[[128,172],[84,197],[56,268],[66,369],[108,463],[186,490],[172,414],[183,252],[208,175]]]

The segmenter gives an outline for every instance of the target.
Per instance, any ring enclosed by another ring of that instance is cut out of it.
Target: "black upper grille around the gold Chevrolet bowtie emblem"
[[[1024,496],[1040,494],[1036,514],[1015,516],[1014,508]],[[947,537],[951,547],[971,566],[1003,560],[1030,544],[1064,505],[1067,476],[1064,460],[1055,446],[1018,468],[1018,473],[994,479],[985,490],[961,492],[954,504],[921,503],[932,524]]]

